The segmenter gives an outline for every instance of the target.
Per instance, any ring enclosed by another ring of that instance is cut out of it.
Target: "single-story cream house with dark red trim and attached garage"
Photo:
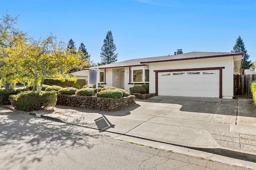
[[[174,55],[131,59],[94,68],[104,73],[105,82],[100,85],[118,87],[115,82],[123,82],[122,88],[128,92],[133,86],[148,84],[149,93],[156,96],[232,99],[236,90],[234,74],[240,74],[243,59],[244,53],[183,53],[179,49]],[[88,84],[93,85],[90,81]]]

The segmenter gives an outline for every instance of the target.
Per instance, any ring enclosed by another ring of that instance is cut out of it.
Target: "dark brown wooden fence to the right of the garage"
[[[252,98],[250,84],[256,81],[256,74],[234,75],[234,95]]]

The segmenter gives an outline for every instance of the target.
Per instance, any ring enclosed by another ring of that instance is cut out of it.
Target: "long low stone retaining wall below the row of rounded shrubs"
[[[77,96],[57,94],[57,104],[65,106],[82,107],[104,111],[117,111],[135,104],[135,96],[123,98],[101,98],[96,96]]]

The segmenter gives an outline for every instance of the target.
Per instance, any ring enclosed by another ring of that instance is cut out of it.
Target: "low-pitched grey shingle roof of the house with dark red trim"
[[[240,72],[244,53],[190,52],[190,53],[184,53],[184,54],[178,54],[178,55],[149,57],[149,58],[143,58],[143,59],[131,59],[131,60],[121,61],[117,63],[95,66],[92,68],[116,68],[116,67],[127,67],[127,66],[141,66],[147,63],[204,59],[204,58],[213,58],[213,57],[227,57],[227,56],[238,56],[234,58],[234,60],[236,60],[234,63],[235,63],[236,72]],[[88,68],[84,68],[84,70],[86,69]]]

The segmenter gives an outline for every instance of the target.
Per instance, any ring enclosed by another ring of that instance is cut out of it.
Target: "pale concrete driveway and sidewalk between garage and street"
[[[120,111],[56,106],[30,114],[232,158],[256,162],[256,106],[252,99],[154,96]],[[129,141],[133,142],[133,141]]]

